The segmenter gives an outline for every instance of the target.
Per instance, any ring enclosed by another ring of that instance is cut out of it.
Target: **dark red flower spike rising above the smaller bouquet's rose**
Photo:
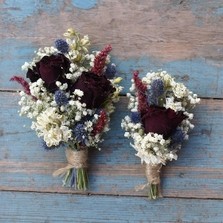
[[[140,113],[145,113],[148,110],[148,103],[147,103],[147,86],[142,83],[142,81],[139,78],[139,71],[134,71],[133,73],[133,80],[135,83],[135,87],[138,94],[138,111]]]

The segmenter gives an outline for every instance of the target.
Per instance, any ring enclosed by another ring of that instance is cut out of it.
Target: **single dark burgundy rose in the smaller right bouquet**
[[[157,133],[167,139],[185,118],[187,116],[183,112],[175,112],[170,108],[150,106],[148,111],[142,115],[142,123],[145,133]]]

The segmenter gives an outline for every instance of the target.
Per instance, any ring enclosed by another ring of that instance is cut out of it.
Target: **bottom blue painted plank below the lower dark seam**
[[[0,192],[0,222],[223,222],[222,201]],[[41,208],[41,209],[40,209]]]

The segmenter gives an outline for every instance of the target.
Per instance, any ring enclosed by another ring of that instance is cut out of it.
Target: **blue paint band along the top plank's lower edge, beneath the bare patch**
[[[53,45],[53,43],[52,43]],[[7,46],[7,47],[4,47]],[[3,59],[0,61],[0,89],[21,89],[17,83],[10,82],[13,75],[26,76],[21,71],[21,65],[30,61],[37,49],[27,41],[14,41],[7,39],[0,42]],[[149,57],[135,57],[133,59],[121,60],[114,57],[112,60],[117,64],[119,75],[123,78],[121,83],[124,86],[122,94],[129,92],[133,70],[139,70],[140,75],[146,75],[150,71],[166,70],[179,82],[183,82],[190,90],[202,97],[222,98],[223,97],[223,69],[208,64],[200,58],[193,60],[176,60],[172,62],[160,62]]]

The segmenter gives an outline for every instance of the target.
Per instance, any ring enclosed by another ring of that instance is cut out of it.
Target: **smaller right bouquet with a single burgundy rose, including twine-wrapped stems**
[[[149,197],[160,193],[160,171],[167,161],[177,159],[177,151],[193,129],[193,109],[200,99],[166,72],[148,73],[142,80],[133,74],[129,106],[122,120],[125,137],[132,138],[136,156],[145,163]],[[144,188],[143,187],[143,188]]]

